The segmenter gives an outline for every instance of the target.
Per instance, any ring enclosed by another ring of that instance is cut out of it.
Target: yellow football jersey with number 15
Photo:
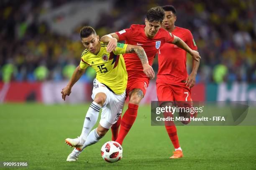
[[[97,55],[87,49],[82,52],[80,67],[86,69],[91,66],[96,72],[99,82],[106,85],[115,94],[122,94],[127,85],[128,75],[123,55],[127,44],[118,43],[115,50],[107,52],[108,44],[100,42],[100,51]]]

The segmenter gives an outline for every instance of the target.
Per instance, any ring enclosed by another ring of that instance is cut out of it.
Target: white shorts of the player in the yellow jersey
[[[103,92],[107,96],[102,106],[100,125],[103,128],[110,129],[122,114],[125,102],[125,91],[123,94],[117,95],[95,78],[93,80],[92,100],[94,100],[95,95],[99,92]]]

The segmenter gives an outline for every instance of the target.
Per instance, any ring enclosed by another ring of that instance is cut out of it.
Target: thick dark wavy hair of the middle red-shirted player
[[[146,18],[150,23],[154,21],[162,23],[164,20],[164,9],[162,7],[152,7],[148,10]]]

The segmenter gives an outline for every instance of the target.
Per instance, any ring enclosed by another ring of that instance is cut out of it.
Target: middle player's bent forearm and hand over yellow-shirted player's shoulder
[[[108,43],[108,46],[107,46],[108,52],[115,50],[115,47],[117,47],[118,40],[119,40],[119,37],[116,33],[104,35],[103,37],[100,38],[100,41],[104,43]]]

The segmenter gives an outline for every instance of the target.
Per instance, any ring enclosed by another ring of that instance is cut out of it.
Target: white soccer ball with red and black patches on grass
[[[108,141],[101,147],[101,156],[108,163],[115,163],[123,157],[122,146],[115,141]]]

